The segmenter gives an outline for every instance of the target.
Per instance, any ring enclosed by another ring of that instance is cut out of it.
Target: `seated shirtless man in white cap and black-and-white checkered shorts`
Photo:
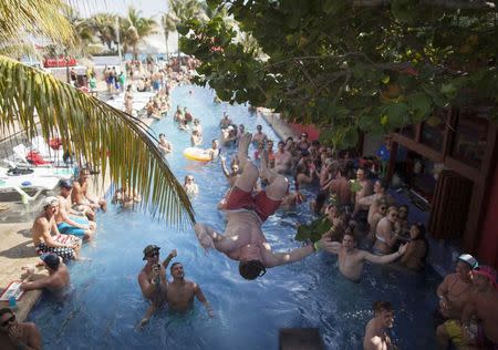
[[[39,254],[53,253],[64,261],[77,259],[81,239],[75,236],[61,235],[59,233],[58,225],[55,224],[58,210],[58,198],[46,197],[43,200],[43,212],[37,217],[31,228],[34,248]],[[52,236],[52,231],[56,236]]]

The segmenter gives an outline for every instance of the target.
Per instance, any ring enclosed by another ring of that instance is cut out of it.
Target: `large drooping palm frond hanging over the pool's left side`
[[[39,122],[43,137],[59,134],[64,150],[100,164],[102,176],[108,169],[113,182],[137,189],[153,215],[175,226],[195,222],[188,196],[146,125],[50,74],[1,55],[0,76],[1,128],[19,124],[32,137]]]

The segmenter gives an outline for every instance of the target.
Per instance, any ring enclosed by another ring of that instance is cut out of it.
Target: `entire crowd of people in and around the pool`
[[[154,63],[132,62],[126,71],[138,80],[137,91],[154,91],[145,110],[147,116],[163,114],[169,109],[168,83],[188,80],[195,61],[188,61],[184,71],[174,71],[177,62],[158,68]],[[145,70],[145,74],[144,74]],[[108,76],[116,74],[113,70]],[[118,75],[117,75],[118,76]],[[106,78],[107,81],[107,78]],[[113,87],[110,87],[113,89]],[[125,110],[132,113],[132,87],[125,95]],[[127,102],[128,101],[128,102]],[[186,106],[177,106],[173,119],[178,128],[189,132],[191,146],[203,144],[201,121]],[[365,261],[396,264],[396,269],[421,272],[426,265],[428,241],[425,227],[409,220],[408,206],[395,203],[388,183],[370,166],[362,166],[350,152],[310,141],[307,133],[299,140],[288,137],[274,142],[257,125],[253,134],[243,124],[234,124],[228,113],[220,122],[220,137],[204,150],[210,161],[220,158],[221,173],[229,191],[220,199],[218,208],[226,214],[226,228],[219,233],[212,227],[197,223],[195,234],[200,246],[216,249],[228,258],[239,261],[242,278],[255,280],[269,268],[291,264],[319,250],[338,256],[340,274],[354,282],[362,282]],[[253,144],[256,152],[249,154]],[[174,147],[164,134],[159,134],[158,148],[165,157]],[[227,161],[220,147],[237,147],[235,156]],[[385,159],[383,159],[385,161]],[[32,238],[46,276],[35,276],[28,269],[22,282],[24,290],[63,290],[70,284],[68,261],[79,259],[83,241],[93,239],[96,230],[95,212],[106,210],[103,198],[93,197],[89,187],[90,169],[81,168],[74,182],[61,181],[60,194],[46,197],[43,210],[32,227]],[[186,175],[184,189],[189,196],[201,191],[193,175]],[[305,191],[304,191],[305,189]],[[310,195],[315,193],[317,195]],[[308,197],[307,197],[308,196]],[[133,207],[141,197],[133,188],[116,191],[113,203]],[[314,219],[301,223],[295,240],[303,245],[290,251],[274,251],[262,230],[262,224],[277,210],[295,210],[309,203]],[[362,249],[359,248],[362,244]],[[143,328],[156,310],[165,306],[173,312],[184,312],[197,298],[209,317],[214,309],[200,287],[185,279],[181,262],[172,260],[172,250],[162,261],[160,248],[144,248],[145,266],[138,275],[142,295],[151,302],[137,328]],[[172,280],[167,278],[167,268]],[[435,315],[435,334],[439,349],[497,349],[498,344],[498,285],[497,272],[468,254],[458,257],[456,272],[445,277],[437,288],[438,308]],[[364,349],[395,349],[390,338],[394,326],[394,309],[390,301],[373,305],[373,318],[365,326]],[[0,346],[9,348],[40,348],[40,332],[33,323],[15,321],[12,310],[0,310]]]

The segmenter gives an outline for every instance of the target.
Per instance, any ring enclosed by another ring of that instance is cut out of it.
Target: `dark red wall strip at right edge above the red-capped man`
[[[489,187],[489,199],[483,223],[478,257],[483,262],[498,268],[498,164],[495,165],[492,184]]]

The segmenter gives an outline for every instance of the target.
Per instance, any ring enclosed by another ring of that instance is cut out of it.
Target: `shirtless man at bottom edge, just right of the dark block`
[[[363,350],[396,349],[391,342],[387,330],[393,328],[394,312],[391,302],[375,301],[374,318],[366,323]]]

